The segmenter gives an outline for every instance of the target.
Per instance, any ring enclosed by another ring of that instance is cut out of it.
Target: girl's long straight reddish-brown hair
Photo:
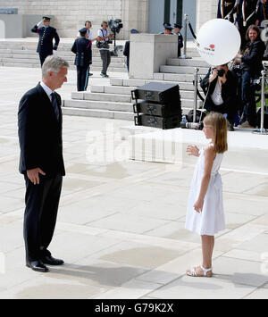
[[[205,116],[204,123],[214,130],[214,149],[216,153],[223,154],[228,151],[227,121],[222,113],[209,113]]]

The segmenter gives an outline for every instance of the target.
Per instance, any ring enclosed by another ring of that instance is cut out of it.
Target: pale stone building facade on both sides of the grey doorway
[[[166,6],[180,5],[185,0],[163,1],[163,12]],[[216,15],[218,0],[187,0],[194,2],[191,10],[195,11],[197,29]],[[149,32],[150,19],[159,21],[163,25],[163,12],[153,17],[150,15],[155,0],[0,0],[1,8],[18,8],[19,14],[48,15],[53,17],[52,25],[61,37],[72,38],[77,34],[86,20],[92,21],[94,31],[102,21],[121,19],[123,29],[119,38],[129,38],[130,29]],[[172,9],[173,10],[173,9]],[[181,17],[180,17],[181,18]],[[38,21],[37,21],[38,22]]]

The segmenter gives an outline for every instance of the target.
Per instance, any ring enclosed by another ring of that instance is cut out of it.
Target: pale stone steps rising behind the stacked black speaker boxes
[[[197,57],[197,51],[188,52],[193,59],[169,59],[161,66],[160,72],[154,74],[153,80],[145,79],[110,79],[110,86],[91,86],[90,92],[74,92],[71,100],[63,101],[63,114],[98,118],[133,121],[133,101],[131,90],[148,82],[178,83],[180,86],[182,112],[188,113],[194,104],[194,73],[199,68],[200,76],[204,77],[209,65]],[[202,106],[198,100],[198,107]]]

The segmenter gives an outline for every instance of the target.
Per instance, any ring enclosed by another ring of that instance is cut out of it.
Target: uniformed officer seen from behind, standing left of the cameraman
[[[71,47],[75,55],[77,68],[77,90],[86,91],[88,88],[89,65],[92,63],[92,42],[87,38],[87,28],[80,29],[81,38],[77,38]]]

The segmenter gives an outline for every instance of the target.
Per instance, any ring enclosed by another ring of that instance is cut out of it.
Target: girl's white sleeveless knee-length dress
[[[205,149],[201,149],[197,167],[191,183],[188,196],[188,213],[185,228],[197,232],[201,236],[214,236],[225,229],[225,218],[222,203],[222,177],[219,170],[223,154],[216,154],[211,172],[211,179],[207,188],[202,213],[197,213],[194,204],[200,193],[201,182],[205,169]]]

